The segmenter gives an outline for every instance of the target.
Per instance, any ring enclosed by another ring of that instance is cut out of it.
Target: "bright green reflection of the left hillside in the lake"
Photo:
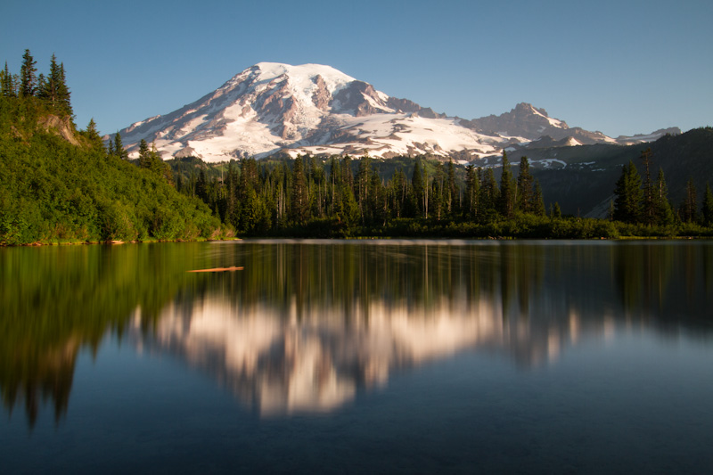
[[[186,282],[176,245],[0,249],[0,389],[9,412],[24,400],[30,426],[47,399],[67,410],[81,348],[95,355],[141,307],[152,319]],[[199,278],[200,279],[200,278]],[[199,279],[191,279],[193,282]]]

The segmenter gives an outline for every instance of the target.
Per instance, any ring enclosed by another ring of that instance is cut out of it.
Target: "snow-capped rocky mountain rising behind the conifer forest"
[[[677,129],[676,129],[677,130]],[[665,133],[666,131],[664,131]],[[460,119],[397,99],[330,66],[260,62],[216,91],[166,115],[119,131],[131,155],[141,139],[164,159],[224,161],[276,152],[479,158],[537,140],[566,144],[636,143],[663,133],[613,139],[570,128],[520,103],[500,116]]]

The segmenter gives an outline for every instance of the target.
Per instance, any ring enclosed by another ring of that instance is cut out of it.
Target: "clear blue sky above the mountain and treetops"
[[[62,61],[79,127],[174,111],[260,61],[328,64],[474,119],[518,102],[607,135],[713,125],[713,2],[2,0],[0,61]],[[4,62],[2,63],[4,66]]]

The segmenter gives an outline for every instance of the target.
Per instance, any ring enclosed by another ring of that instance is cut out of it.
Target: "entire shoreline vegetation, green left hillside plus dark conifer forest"
[[[29,50],[20,75],[0,70],[0,244],[193,240],[238,236],[615,238],[711,235],[713,195],[689,180],[680,206],[650,149],[611,184],[607,219],[545,209],[527,157],[494,168],[433,157],[254,158],[208,165],[138,159],[94,120],[73,123],[64,66],[37,76]],[[643,176],[639,169],[643,169]],[[516,168],[516,169],[512,169]],[[654,178],[653,175],[656,174]],[[605,197],[602,197],[605,198]],[[699,203],[701,203],[699,205]]]

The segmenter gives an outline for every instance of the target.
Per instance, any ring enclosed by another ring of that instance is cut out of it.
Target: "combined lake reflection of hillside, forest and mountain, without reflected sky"
[[[79,352],[128,331],[263,413],[329,410],[466,348],[528,367],[624,327],[710,338],[711,298],[709,242],[0,249],[0,389],[30,422],[43,400],[59,417]]]

